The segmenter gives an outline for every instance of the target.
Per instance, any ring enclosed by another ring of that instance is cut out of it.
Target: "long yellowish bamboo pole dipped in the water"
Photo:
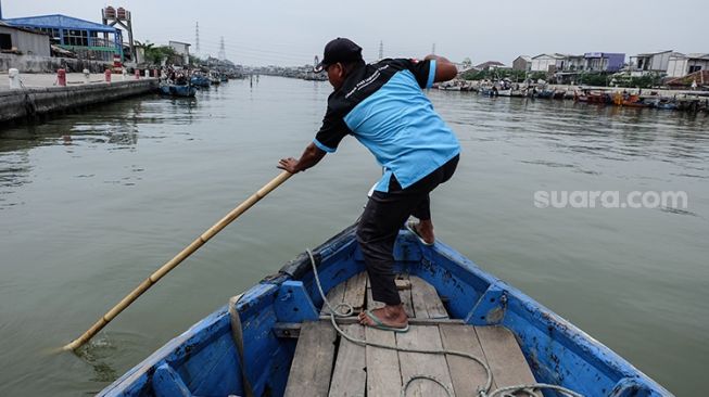
[[[118,316],[124,309],[126,309],[128,306],[130,306],[130,304],[132,304],[136,299],[138,299],[140,295],[142,295],[145,291],[148,291],[148,289],[150,289],[160,279],[162,279],[163,276],[167,274],[170,270],[176,268],[177,265],[179,265],[180,262],[182,262],[182,260],[187,259],[187,257],[192,255],[197,249],[199,249],[202,245],[204,245],[204,243],[206,243],[210,239],[212,239],[214,235],[220,232],[221,229],[226,228],[227,225],[236,220],[241,214],[245,213],[246,209],[251,208],[261,198],[265,197],[268,193],[270,193],[276,188],[278,188],[291,176],[292,174],[288,171],[282,171],[270,182],[266,183],[263,188],[261,188],[256,193],[252,194],[243,203],[239,204],[229,214],[227,214],[224,218],[221,218],[221,220],[219,220],[213,227],[207,229],[204,233],[202,233],[199,238],[197,238],[197,240],[194,240],[190,245],[185,247],[174,258],[168,260],[160,269],[155,270],[155,272],[150,274],[149,278],[147,278],[135,290],[132,290],[128,295],[126,295],[126,297],[124,297],[116,306],[114,306],[111,310],[109,310],[105,315],[103,315],[103,317],[101,317],[93,325],[91,325],[90,329],[88,329],[84,334],[81,334],[81,336],[77,337],[76,340],[72,341],[72,343],[62,347],[62,350],[75,350],[81,347],[85,343],[89,342],[89,340],[91,340],[99,331],[101,331],[109,322],[111,322],[111,320],[116,318],[116,316]]]

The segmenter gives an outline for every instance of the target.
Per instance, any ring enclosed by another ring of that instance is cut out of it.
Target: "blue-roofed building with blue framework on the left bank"
[[[112,62],[123,60],[123,38],[119,29],[72,16],[54,14],[3,20],[12,26],[41,31],[54,46],[72,51],[77,57]]]

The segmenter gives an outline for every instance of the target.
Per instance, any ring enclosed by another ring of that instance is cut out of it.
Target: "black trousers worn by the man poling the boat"
[[[431,219],[429,193],[451,179],[458,159],[459,155],[456,155],[406,189],[402,189],[392,175],[389,192],[375,191],[369,197],[357,226],[357,242],[365,257],[375,300],[387,305],[401,304],[392,271],[398,230],[409,215],[421,220]]]

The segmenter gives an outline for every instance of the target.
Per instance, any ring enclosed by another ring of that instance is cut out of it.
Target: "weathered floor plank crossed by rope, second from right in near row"
[[[467,353],[485,361],[485,355],[472,325],[440,324],[439,330],[445,349]],[[455,395],[477,396],[478,388],[484,387],[488,381],[485,369],[471,359],[460,356],[446,355],[445,359],[451,371]]]

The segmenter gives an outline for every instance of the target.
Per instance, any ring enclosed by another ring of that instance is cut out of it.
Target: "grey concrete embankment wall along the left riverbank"
[[[0,91],[0,123],[31,120],[52,113],[151,92],[157,79],[92,82],[68,87],[25,88]]]

